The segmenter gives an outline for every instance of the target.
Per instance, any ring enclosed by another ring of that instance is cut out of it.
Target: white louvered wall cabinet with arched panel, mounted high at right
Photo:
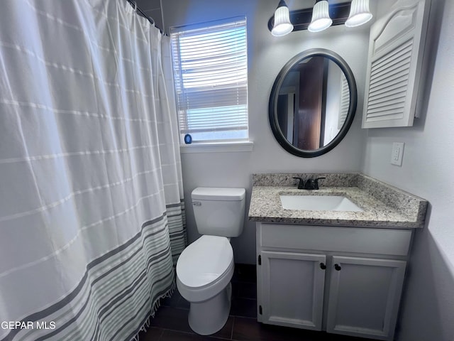
[[[362,128],[412,126],[418,117],[431,0],[400,0],[370,28]]]

